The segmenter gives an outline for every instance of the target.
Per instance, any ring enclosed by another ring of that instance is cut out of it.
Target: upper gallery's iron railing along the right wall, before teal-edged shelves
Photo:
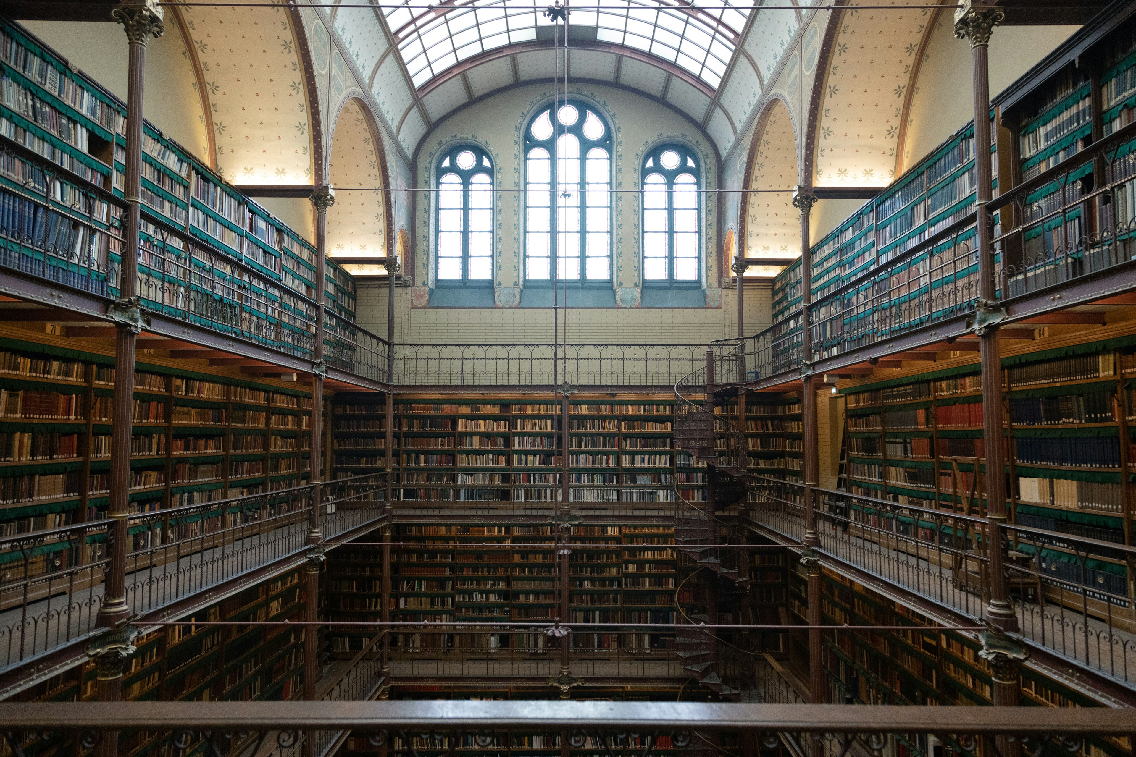
[[[1049,287],[1091,281],[1136,259],[1136,124],[1005,192],[987,208],[999,303]],[[809,305],[810,361],[878,345],[935,323],[967,318],[982,291],[975,213],[900,255],[880,261]],[[1092,291],[1085,292],[1091,301]],[[1055,298],[1053,308],[1069,300]],[[740,350],[747,381],[800,371],[801,310],[745,339],[713,343]],[[884,351],[872,353],[884,356]]]

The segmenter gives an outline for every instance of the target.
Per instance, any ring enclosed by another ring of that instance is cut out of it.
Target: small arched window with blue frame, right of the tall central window
[[[699,161],[665,144],[643,161],[643,280],[698,281],[701,269]]]

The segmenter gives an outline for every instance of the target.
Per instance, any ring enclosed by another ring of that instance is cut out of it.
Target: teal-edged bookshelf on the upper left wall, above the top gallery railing
[[[6,264],[98,294],[114,288],[97,271],[118,260],[122,212],[89,188],[123,196],[125,118],[123,102],[72,72],[17,24],[0,22],[0,227],[8,232]],[[52,168],[50,175],[42,166]],[[251,274],[226,274],[237,288],[251,286],[285,311],[311,314],[315,249],[151,124],[143,128],[141,199],[165,224],[249,267]],[[35,208],[50,211],[44,221],[34,218]],[[74,226],[76,221],[81,226]],[[32,234],[32,225],[41,222],[44,230]],[[144,249],[179,259],[186,271],[193,269],[183,245],[160,227],[143,221],[142,242]],[[44,243],[70,251],[70,258],[45,259],[36,251]],[[140,291],[150,306],[161,310],[169,304],[160,296],[169,269],[151,269],[145,250],[140,263]],[[326,275],[328,306],[353,320],[354,279],[331,260]],[[258,276],[282,284],[281,294],[264,294]]]

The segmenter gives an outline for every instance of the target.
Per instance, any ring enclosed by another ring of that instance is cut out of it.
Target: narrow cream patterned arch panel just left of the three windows
[[[386,255],[382,167],[374,135],[358,100],[348,100],[335,124],[329,178],[335,204],[327,211],[327,253],[332,258]]]

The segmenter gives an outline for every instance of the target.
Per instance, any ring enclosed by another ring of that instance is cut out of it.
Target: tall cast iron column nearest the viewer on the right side
[[[1005,574],[1005,507],[1004,432],[1002,428],[1002,359],[999,351],[997,321],[1002,310],[997,304],[994,253],[991,250],[991,221],[987,203],[993,199],[991,183],[989,67],[987,51],[991,33],[1005,15],[993,8],[974,8],[966,0],[954,11],[954,35],[969,40],[974,67],[975,115],[975,226],[978,247],[979,296],[975,312],[975,331],[979,335],[983,387],[983,435],[986,438],[986,518],[988,525],[989,604],[986,621],[991,626],[983,634],[980,655],[993,672],[995,706],[1020,704],[1019,667],[1026,656],[1024,645],[1009,634],[1018,630],[1018,616],[1010,598]],[[1018,754],[1018,742],[999,739],[1004,757]]]

